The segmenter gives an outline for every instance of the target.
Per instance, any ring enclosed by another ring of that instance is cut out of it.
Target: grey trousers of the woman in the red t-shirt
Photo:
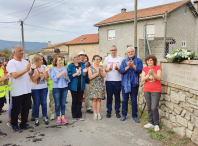
[[[158,106],[161,92],[144,92],[144,96],[148,107],[149,123],[159,125]]]

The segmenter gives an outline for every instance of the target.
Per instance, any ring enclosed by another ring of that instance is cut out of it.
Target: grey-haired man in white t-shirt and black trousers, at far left
[[[29,71],[31,63],[22,59],[23,49],[21,46],[13,46],[14,57],[8,62],[7,71],[10,75],[11,95],[13,108],[11,110],[12,130],[17,132],[21,129],[33,128],[26,124],[31,106],[31,87]],[[32,74],[32,71],[30,71]],[[21,110],[21,124],[18,126],[18,115]]]

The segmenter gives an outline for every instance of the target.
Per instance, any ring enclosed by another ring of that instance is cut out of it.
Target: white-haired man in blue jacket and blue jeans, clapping
[[[143,63],[140,58],[135,56],[135,49],[133,47],[127,48],[128,57],[122,61],[120,66],[120,73],[122,76],[122,117],[124,121],[128,112],[129,95],[131,97],[132,117],[136,123],[139,123],[137,117],[137,95],[139,88],[139,75],[142,73]]]

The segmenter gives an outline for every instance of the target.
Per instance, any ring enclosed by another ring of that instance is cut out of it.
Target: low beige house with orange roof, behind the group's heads
[[[43,49],[45,51],[53,52],[56,48],[60,49],[61,55],[63,52],[68,52],[67,56],[65,56],[68,60],[71,60],[72,54],[78,54],[80,51],[84,51],[91,60],[93,55],[99,54],[98,34],[81,35],[69,42],[54,45],[51,45],[50,42],[48,42],[48,46]]]

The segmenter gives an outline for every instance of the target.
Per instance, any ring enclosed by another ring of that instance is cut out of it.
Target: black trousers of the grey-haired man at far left
[[[18,116],[21,110],[21,124],[20,127],[26,126],[29,109],[31,106],[31,93],[20,96],[12,96],[12,110],[11,110],[11,124],[16,126],[18,124]]]

